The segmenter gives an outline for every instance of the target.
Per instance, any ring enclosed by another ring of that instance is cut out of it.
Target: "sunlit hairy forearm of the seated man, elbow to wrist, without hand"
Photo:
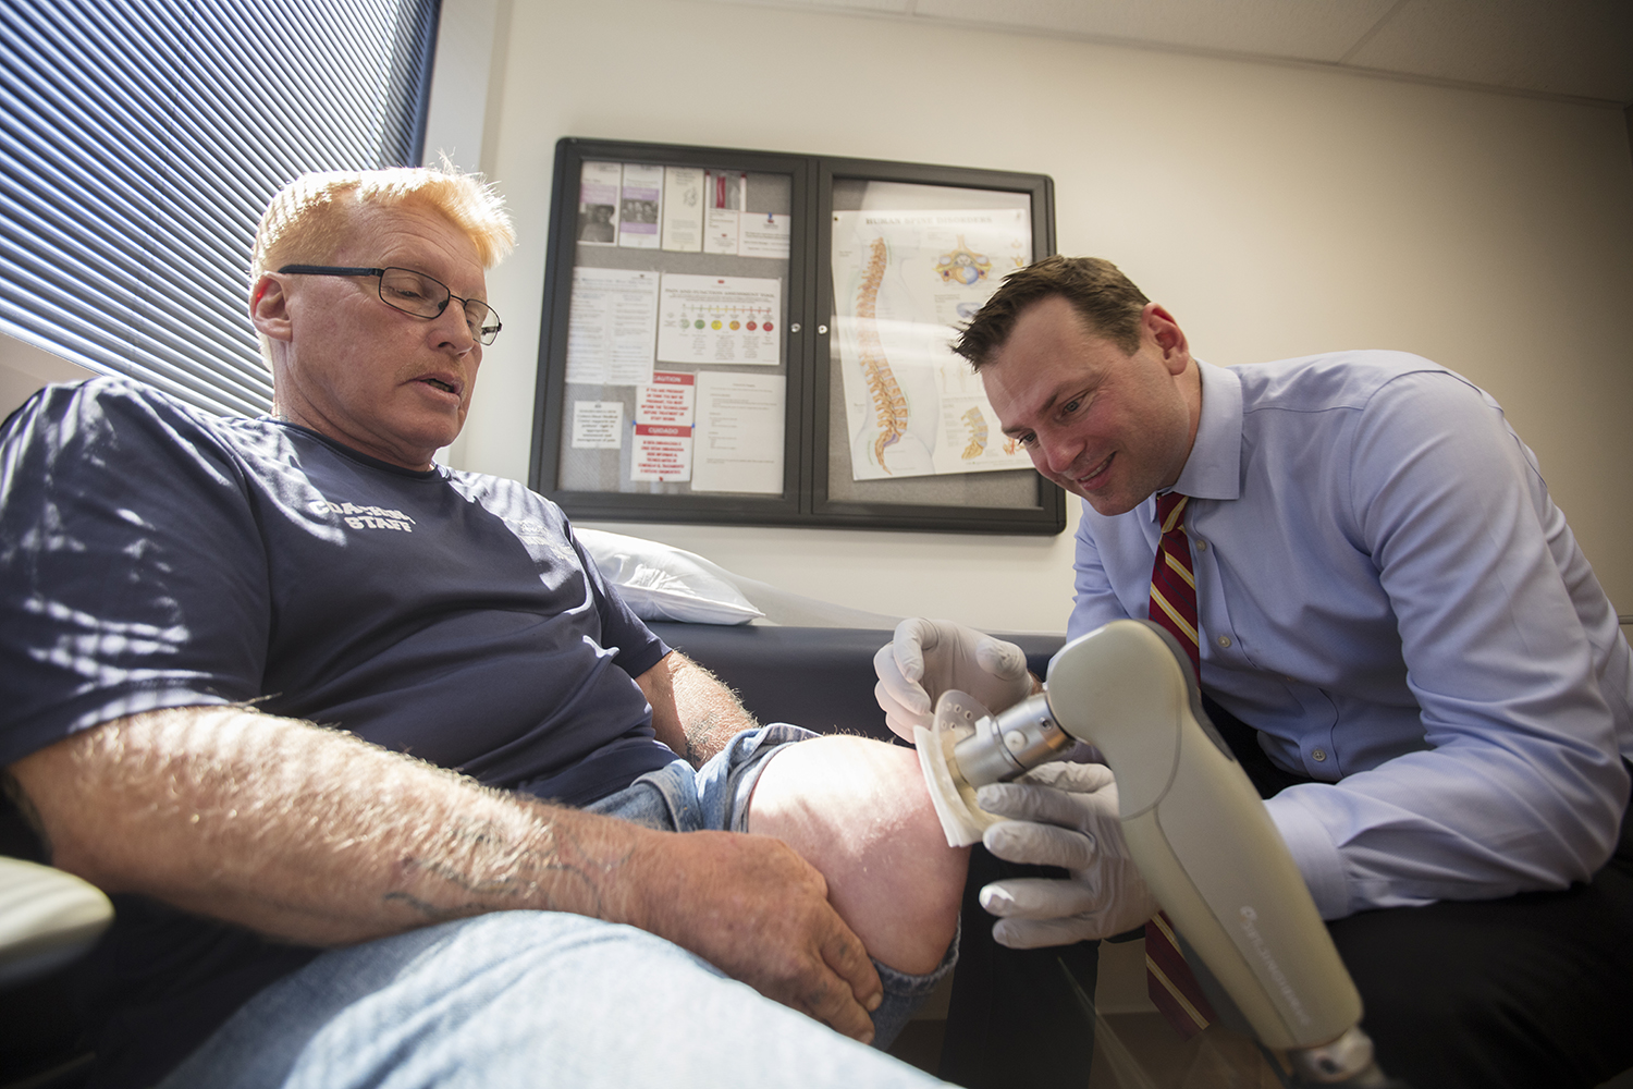
[[[656,834],[242,707],[122,718],[11,774],[56,865],[317,945],[514,908],[637,921],[622,870]]]

